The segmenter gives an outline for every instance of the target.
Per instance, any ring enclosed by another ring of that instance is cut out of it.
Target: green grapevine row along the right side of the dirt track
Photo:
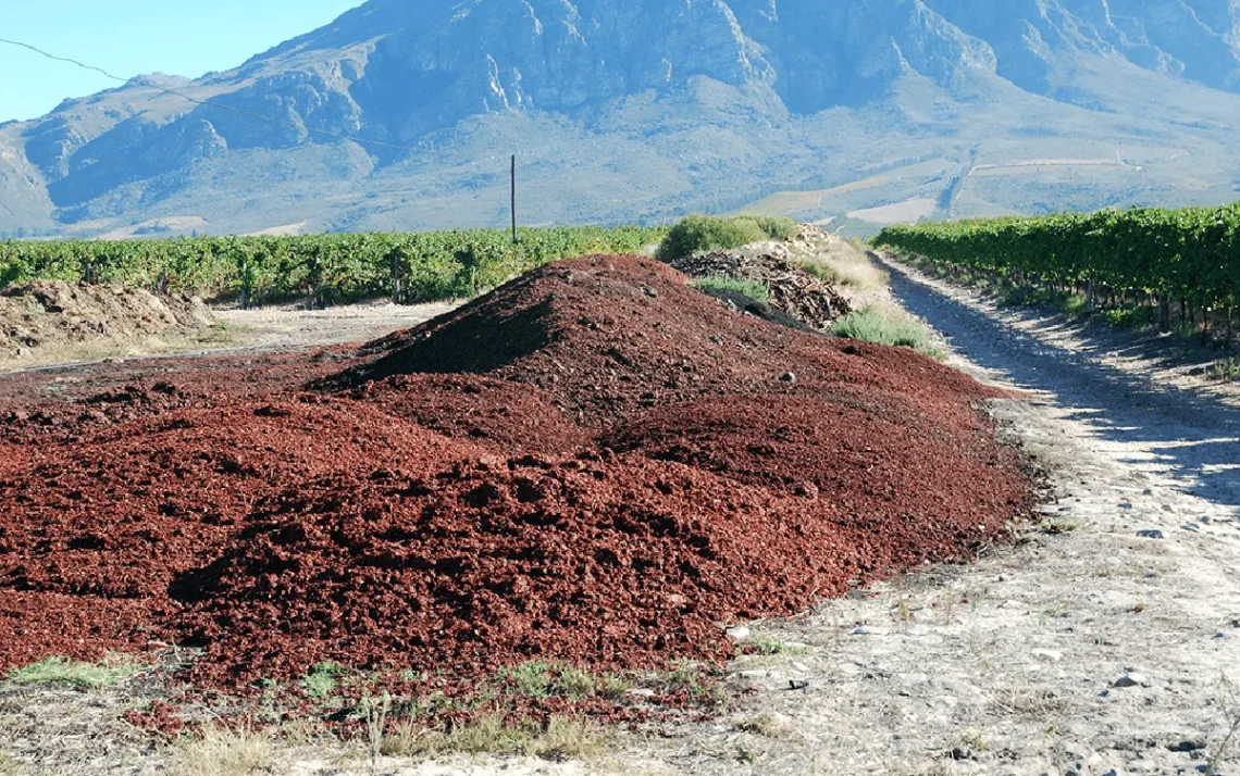
[[[1205,310],[1240,301],[1240,203],[897,226],[874,242],[1023,281],[1092,283]]]

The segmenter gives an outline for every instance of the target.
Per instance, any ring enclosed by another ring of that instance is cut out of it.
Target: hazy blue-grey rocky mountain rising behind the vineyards
[[[0,234],[1231,198],[1240,0],[371,0],[0,125]]]

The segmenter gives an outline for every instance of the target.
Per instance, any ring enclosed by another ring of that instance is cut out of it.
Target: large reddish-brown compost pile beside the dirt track
[[[0,441],[0,669],[167,642],[223,688],[717,661],[722,625],[967,558],[1029,505],[978,383],[650,259],[552,264],[363,352]]]

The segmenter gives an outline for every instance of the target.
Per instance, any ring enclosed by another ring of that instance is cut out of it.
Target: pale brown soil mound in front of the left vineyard
[[[202,300],[122,285],[35,280],[0,291],[0,361],[92,340],[190,333],[215,324]]]

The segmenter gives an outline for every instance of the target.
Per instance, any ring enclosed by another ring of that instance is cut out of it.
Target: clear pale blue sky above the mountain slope
[[[417,1],[417,0],[414,0]],[[197,77],[327,24],[362,0],[2,0],[0,37],[129,78]],[[0,121],[118,86],[98,73],[0,43]]]

